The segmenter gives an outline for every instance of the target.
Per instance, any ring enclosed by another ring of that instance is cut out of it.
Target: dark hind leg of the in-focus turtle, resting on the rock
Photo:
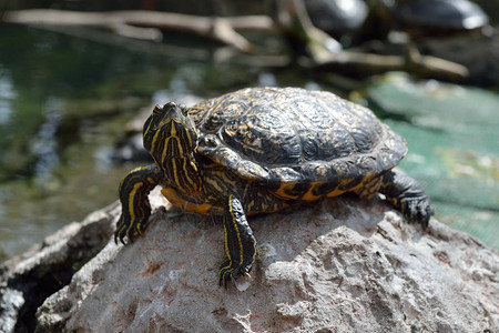
[[[399,170],[391,170],[383,176],[379,192],[385,194],[386,200],[400,210],[409,222],[419,223],[425,229],[428,226],[434,208],[430,198],[416,180]]]

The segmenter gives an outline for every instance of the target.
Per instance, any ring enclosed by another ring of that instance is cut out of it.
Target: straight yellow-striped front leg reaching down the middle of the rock
[[[227,260],[220,266],[218,284],[227,289],[227,281],[231,280],[235,285],[238,276],[249,276],[256,253],[256,240],[237,198],[228,196],[223,224]]]

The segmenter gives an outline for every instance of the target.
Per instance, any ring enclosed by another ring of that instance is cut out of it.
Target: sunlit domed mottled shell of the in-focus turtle
[[[190,109],[197,152],[237,176],[271,183],[379,175],[407,152],[368,109],[330,92],[249,88]]]

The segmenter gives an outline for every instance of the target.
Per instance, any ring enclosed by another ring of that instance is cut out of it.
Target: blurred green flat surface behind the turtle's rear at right
[[[400,163],[430,193],[439,221],[499,248],[499,94],[391,73],[366,90],[369,105],[409,154]]]

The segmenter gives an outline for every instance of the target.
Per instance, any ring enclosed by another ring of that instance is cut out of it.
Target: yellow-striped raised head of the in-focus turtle
[[[144,123],[143,141],[156,162],[191,155],[197,132],[187,108],[175,103],[156,105]]]

